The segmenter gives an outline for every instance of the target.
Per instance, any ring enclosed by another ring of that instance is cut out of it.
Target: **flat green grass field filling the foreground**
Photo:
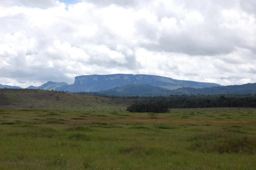
[[[0,169],[256,169],[255,108],[153,114],[113,103],[0,109]]]

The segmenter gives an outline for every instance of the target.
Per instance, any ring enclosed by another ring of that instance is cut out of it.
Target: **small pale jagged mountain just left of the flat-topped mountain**
[[[43,85],[40,85],[38,87],[35,87],[35,86],[29,86],[27,88],[29,89],[44,89],[44,90],[57,90],[57,91],[62,91],[64,90],[65,88],[67,88],[69,85],[67,83],[56,83],[56,82],[52,82],[52,81],[49,81]]]

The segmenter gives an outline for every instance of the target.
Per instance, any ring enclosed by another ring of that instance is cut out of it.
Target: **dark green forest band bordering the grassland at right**
[[[136,100],[129,106],[129,112],[165,113],[168,108],[208,108],[208,107],[256,107],[256,96],[225,97],[225,96],[169,96]]]

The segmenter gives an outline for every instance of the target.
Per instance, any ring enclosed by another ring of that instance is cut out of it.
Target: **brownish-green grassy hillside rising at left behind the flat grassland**
[[[0,89],[2,108],[57,108],[92,111],[125,110],[134,100],[110,99],[35,89]]]

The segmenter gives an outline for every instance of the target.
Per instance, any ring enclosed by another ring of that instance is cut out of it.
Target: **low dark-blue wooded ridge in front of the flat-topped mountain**
[[[120,90],[121,89],[121,90]],[[215,95],[215,94],[256,94],[256,83],[228,85],[210,88],[183,87],[175,90],[146,88],[145,85],[124,85],[109,90],[102,90],[98,95],[114,96],[169,96],[169,95]]]

